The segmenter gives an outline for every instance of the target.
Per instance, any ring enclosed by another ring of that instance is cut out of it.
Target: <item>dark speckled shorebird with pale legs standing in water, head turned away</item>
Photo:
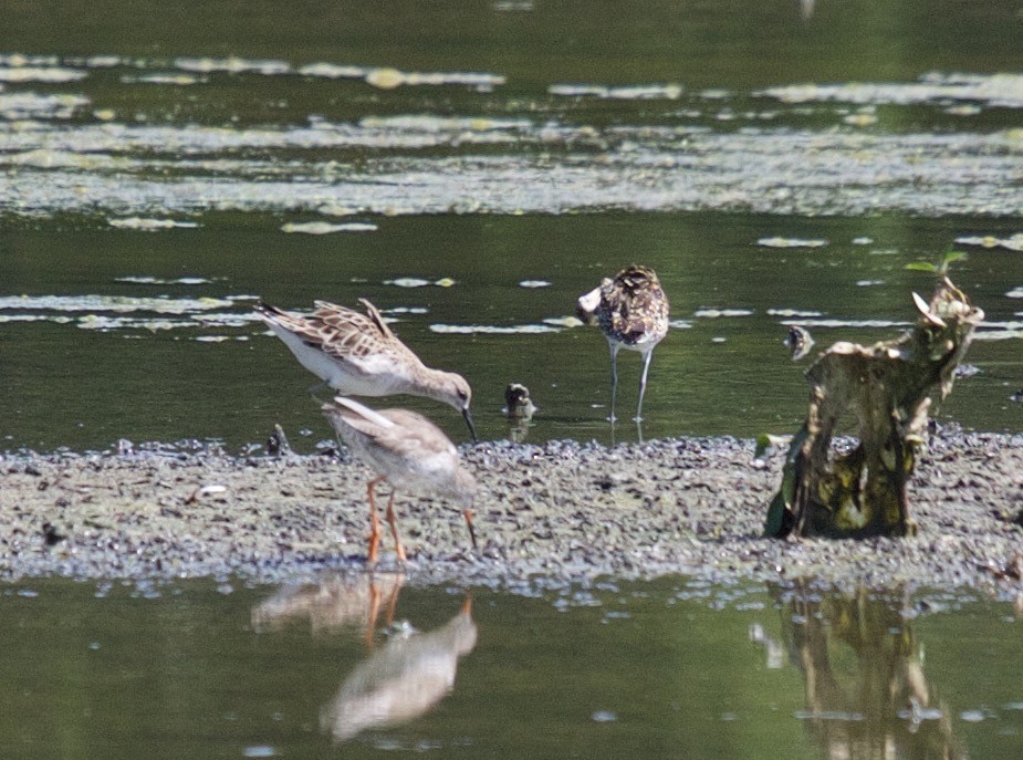
[[[628,348],[643,354],[639,403],[636,405],[636,421],[640,421],[650,357],[668,334],[668,298],[660,280],[649,267],[626,267],[614,280],[604,278],[598,288],[582,295],[576,311],[588,324],[599,325],[610,348],[610,421],[615,421],[618,392],[618,351]]]

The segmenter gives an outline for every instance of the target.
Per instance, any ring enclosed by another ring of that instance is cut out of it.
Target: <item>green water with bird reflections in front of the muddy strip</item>
[[[367,635],[369,590],[365,577],[300,593],[234,580],[7,586],[0,750],[112,760],[1023,750],[1011,666],[1021,622],[1005,602],[666,579],[474,589],[466,614],[460,590],[384,576]]]

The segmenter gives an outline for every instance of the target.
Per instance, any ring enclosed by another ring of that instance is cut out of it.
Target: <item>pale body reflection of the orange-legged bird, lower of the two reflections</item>
[[[395,634],[345,678],[320,711],[320,727],[346,741],[425,715],[455,688],[458,660],[472,652],[476,638],[468,598],[439,628]]]

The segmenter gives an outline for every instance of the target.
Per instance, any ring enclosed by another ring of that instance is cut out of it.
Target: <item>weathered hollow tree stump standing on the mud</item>
[[[806,421],[785,458],[782,486],[764,533],[782,538],[911,535],[906,486],[923,444],[931,396],[952,389],[956,365],[984,317],[947,277],[930,303],[914,293],[920,316],[898,340],[834,344],[806,372]],[[838,454],[835,426],[852,415],[858,445]]]

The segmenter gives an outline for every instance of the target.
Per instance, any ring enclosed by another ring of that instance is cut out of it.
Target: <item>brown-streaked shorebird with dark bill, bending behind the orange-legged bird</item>
[[[351,396],[409,394],[443,402],[459,412],[473,443],[472,389],[461,375],[426,366],[392,332],[379,310],[359,299],[366,313],[316,301],[309,316],[260,302],[255,312],[306,369]]]

